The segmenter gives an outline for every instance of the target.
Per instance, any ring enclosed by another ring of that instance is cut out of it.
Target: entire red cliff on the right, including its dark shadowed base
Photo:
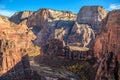
[[[93,51],[100,65],[96,80],[120,79],[120,10],[108,13],[97,36]],[[108,54],[107,54],[108,53]]]

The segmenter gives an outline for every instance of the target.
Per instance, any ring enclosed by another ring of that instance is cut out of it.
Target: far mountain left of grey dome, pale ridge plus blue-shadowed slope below
[[[40,9],[28,18],[27,24],[37,35],[34,43],[42,46],[51,39],[66,41],[75,19],[72,12]]]

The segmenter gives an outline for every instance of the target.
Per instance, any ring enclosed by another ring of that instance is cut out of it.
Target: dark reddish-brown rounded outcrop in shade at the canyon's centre
[[[43,52],[43,55],[58,56],[63,54],[64,46],[65,44],[63,41],[52,39],[41,48],[41,52]]]

